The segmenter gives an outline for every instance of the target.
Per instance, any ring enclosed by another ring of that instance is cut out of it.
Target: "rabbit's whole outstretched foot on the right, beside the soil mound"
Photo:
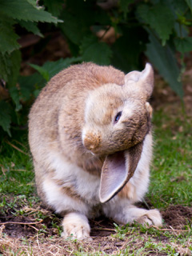
[[[145,210],[133,205],[106,206],[104,209],[107,217],[115,222],[125,225],[126,223],[138,222],[148,226],[162,226],[162,216],[158,210]]]

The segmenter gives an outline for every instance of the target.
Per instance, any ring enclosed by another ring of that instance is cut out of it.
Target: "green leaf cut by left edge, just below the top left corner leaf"
[[[0,52],[2,54],[11,53],[18,49],[18,34],[14,33],[12,24],[0,21]]]

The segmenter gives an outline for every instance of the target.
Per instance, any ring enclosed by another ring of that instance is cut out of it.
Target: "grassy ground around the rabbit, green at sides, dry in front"
[[[158,110],[154,114],[154,162],[146,195],[146,201],[162,211],[170,205],[191,206],[192,202],[192,120],[179,109],[167,113]],[[64,241],[59,237],[61,219],[43,209],[35,194],[27,134],[3,139],[0,154],[0,216],[11,216],[14,222],[36,223],[18,224],[17,229],[30,230],[21,238],[8,236],[6,226],[0,225],[0,255],[192,254],[189,219],[178,229],[114,226],[113,234],[94,238],[94,242]]]

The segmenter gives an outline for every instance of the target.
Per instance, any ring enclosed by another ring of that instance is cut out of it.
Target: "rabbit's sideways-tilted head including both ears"
[[[154,72],[147,63],[142,72],[126,74],[123,86],[106,84],[86,99],[82,143],[92,154],[106,156],[101,202],[114,197],[134,174],[150,131],[152,109],[147,99],[153,87]]]

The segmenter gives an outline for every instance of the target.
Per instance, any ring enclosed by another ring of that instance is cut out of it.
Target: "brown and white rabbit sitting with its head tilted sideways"
[[[29,143],[42,202],[63,216],[64,238],[90,238],[90,218],[162,225],[146,194],[152,158],[154,87],[149,63],[124,74],[92,62],[50,79],[31,107]]]

